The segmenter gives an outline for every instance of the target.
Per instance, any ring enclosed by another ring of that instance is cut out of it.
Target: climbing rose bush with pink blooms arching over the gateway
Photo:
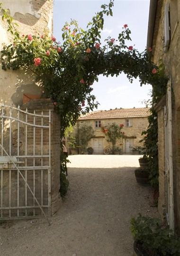
[[[62,29],[63,42],[60,43],[48,32],[42,35],[20,34],[0,4],[2,19],[7,20],[8,30],[14,37],[13,42],[1,51],[2,68],[23,69],[36,74],[36,81],[44,87],[46,97],[53,100],[61,116],[62,137],[69,123],[74,125],[80,114],[98,106],[92,85],[100,74],[108,77],[124,72],[131,83],[133,78],[139,78],[141,86],[151,84],[153,105],[166,92],[167,77],[151,62],[151,49],[139,52],[129,44],[131,31],[127,24],[122,26],[118,38],[108,37],[101,45],[104,15],[112,16],[113,5],[114,0],[101,5],[101,10],[88,23],[86,30],[75,20],[66,23]],[[145,146],[158,173],[157,119],[154,117],[156,113],[152,108]]]

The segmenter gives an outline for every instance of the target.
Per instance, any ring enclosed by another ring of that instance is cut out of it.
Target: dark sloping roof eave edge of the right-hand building
[[[149,7],[149,21],[148,21],[148,32],[147,32],[147,49],[153,45],[153,33],[155,26],[155,17],[157,10],[157,0],[150,0]]]

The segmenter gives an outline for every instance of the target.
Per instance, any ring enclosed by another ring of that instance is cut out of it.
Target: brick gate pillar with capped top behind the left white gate
[[[59,193],[60,189],[60,149],[61,149],[61,136],[60,136],[60,117],[55,112],[54,104],[49,99],[35,99],[31,100],[27,104],[23,105],[23,108],[27,108],[28,111],[36,111],[36,114],[49,114],[51,111],[51,215],[54,215],[59,209],[61,197]],[[41,122],[39,120],[39,122]],[[47,120],[44,123],[47,125]],[[33,131],[30,133],[32,136]],[[36,153],[40,151],[40,137],[41,131],[37,131],[36,134]],[[48,153],[49,151],[49,134],[43,134],[43,153]],[[30,139],[30,138],[29,138]],[[30,146],[31,144],[31,146]],[[33,147],[33,136],[28,142],[29,149],[32,151]],[[38,160],[37,160],[38,161]],[[48,161],[48,159],[46,160]],[[45,163],[44,163],[45,164]]]

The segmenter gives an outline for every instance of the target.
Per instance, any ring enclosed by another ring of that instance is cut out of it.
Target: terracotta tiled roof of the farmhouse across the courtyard
[[[107,119],[107,118],[130,118],[147,117],[150,115],[149,108],[118,108],[112,110],[99,110],[81,115],[79,120],[84,119]]]

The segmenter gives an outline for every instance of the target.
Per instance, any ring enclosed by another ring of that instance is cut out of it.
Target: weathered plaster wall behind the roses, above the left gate
[[[53,32],[53,0],[1,0],[3,7],[18,23],[20,34],[43,34]],[[12,37],[7,33],[7,24],[0,20],[0,49],[9,44]],[[41,95],[31,71],[3,71],[0,67],[0,102],[22,104],[23,93]]]

